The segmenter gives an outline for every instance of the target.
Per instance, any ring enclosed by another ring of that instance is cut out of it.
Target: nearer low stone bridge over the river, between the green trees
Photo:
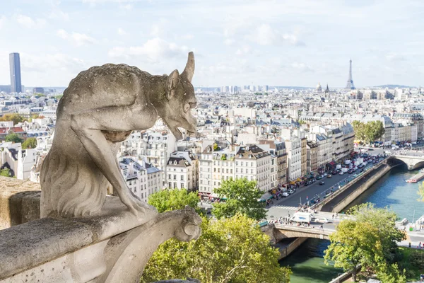
[[[283,238],[320,238],[329,240],[329,235],[334,229],[307,228],[303,226],[273,224],[269,226],[269,230],[265,231],[271,236],[271,241],[283,240]]]

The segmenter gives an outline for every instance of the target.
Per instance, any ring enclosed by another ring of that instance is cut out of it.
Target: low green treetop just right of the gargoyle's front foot
[[[186,205],[198,209],[199,197],[196,192],[188,192],[185,189],[167,189],[155,192],[148,197],[148,204],[158,209],[158,212],[184,209]]]

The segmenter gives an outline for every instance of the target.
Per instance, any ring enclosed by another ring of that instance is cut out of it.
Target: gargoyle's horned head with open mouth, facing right
[[[197,120],[192,115],[192,108],[197,105],[192,78],[194,75],[194,54],[189,52],[184,71],[172,71],[165,82],[166,101],[158,108],[158,115],[174,134],[176,139],[182,139],[179,127],[187,130],[188,134],[196,132]]]

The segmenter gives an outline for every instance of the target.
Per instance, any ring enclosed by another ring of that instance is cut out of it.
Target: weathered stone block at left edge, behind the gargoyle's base
[[[0,230],[40,219],[40,184],[0,176]]]

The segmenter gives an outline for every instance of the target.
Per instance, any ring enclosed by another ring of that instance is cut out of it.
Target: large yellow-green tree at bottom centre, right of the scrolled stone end
[[[206,219],[197,241],[170,239],[159,246],[141,282],[192,277],[202,283],[289,282],[290,269],[278,264],[279,252],[269,245],[254,220],[237,214]]]

